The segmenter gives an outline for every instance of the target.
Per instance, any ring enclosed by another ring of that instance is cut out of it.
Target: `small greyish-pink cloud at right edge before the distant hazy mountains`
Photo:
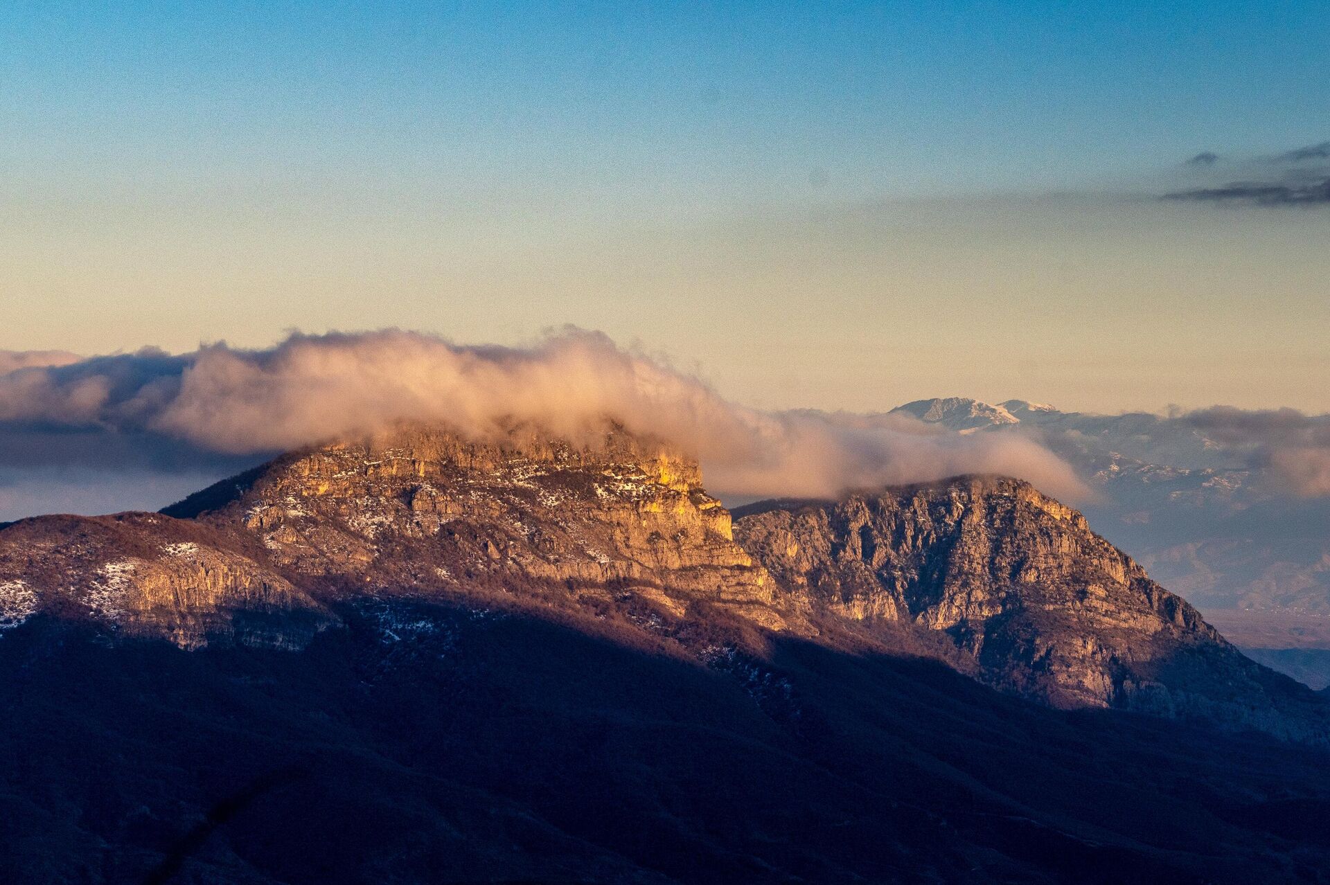
[[[1245,453],[1253,466],[1269,466],[1291,493],[1330,494],[1330,416],[1221,405],[1189,412],[1181,420]]]

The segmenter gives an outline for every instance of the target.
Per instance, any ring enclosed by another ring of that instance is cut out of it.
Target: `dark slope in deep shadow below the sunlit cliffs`
[[[922,658],[336,606],[299,652],[0,639],[11,882],[1317,882],[1330,756]],[[842,642],[846,642],[842,638]]]

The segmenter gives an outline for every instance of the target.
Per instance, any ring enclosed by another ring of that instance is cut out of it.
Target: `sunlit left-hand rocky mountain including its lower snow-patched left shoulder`
[[[11,622],[44,610],[186,647],[301,644],[334,621],[323,602],[476,587],[672,617],[705,601],[786,627],[696,461],[616,431],[575,445],[400,428],[283,456],[164,514],[25,520],[0,533],[7,582]],[[282,610],[298,629],[253,626]]]

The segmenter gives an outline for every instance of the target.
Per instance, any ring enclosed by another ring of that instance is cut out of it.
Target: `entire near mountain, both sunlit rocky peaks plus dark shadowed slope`
[[[0,880],[1330,869],[1330,703],[1017,481],[732,525],[657,441],[412,428],[166,513],[0,530]]]

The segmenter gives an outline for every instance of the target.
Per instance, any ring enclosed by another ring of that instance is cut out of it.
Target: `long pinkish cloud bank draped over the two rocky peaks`
[[[1029,440],[939,433],[907,416],[751,409],[576,328],[524,348],[396,330],[294,334],[267,349],[145,349],[0,375],[0,429],[166,440],[185,462],[258,456],[400,420],[472,437],[529,421],[589,439],[605,419],[693,452],[709,485],[732,497],[829,496],[970,472],[1020,476],[1073,500],[1085,494],[1065,462]],[[65,440],[60,450],[70,457],[77,448]],[[27,450],[40,460],[40,446]]]

